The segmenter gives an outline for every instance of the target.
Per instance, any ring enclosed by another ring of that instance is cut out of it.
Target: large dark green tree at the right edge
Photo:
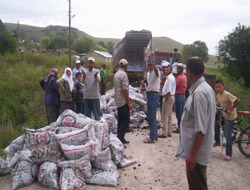
[[[226,72],[235,79],[242,77],[250,87],[250,27],[238,24],[218,46],[219,60]]]

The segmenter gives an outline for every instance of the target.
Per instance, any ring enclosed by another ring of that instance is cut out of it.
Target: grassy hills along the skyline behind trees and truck
[[[17,24],[5,23],[5,25],[6,25],[6,28],[12,33],[15,33],[15,31],[17,30]],[[20,35],[25,40],[30,40],[30,39],[40,40],[41,37],[49,35],[55,30],[68,30],[68,27],[67,26],[37,27],[37,26],[30,26],[30,25],[24,25],[24,24],[19,25]],[[89,35],[73,27],[72,27],[72,31],[76,32],[77,37],[81,37],[83,35]],[[100,38],[100,37],[94,37],[94,38],[96,39],[96,41],[103,41],[105,43],[113,42],[114,44],[116,44],[117,42],[121,40],[117,38]],[[168,37],[153,37],[152,45],[153,45],[153,50],[158,49],[159,51],[167,51],[167,52],[172,52],[174,48],[177,48],[179,52],[181,52],[183,48],[182,43],[177,42]],[[209,55],[209,61],[208,61],[209,64],[213,64],[214,62],[216,62],[216,60],[217,60],[216,56]]]

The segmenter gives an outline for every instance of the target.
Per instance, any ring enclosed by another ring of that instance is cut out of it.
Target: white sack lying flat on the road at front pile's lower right
[[[86,179],[89,184],[117,186],[118,177],[120,176],[118,170],[92,170],[93,177]]]

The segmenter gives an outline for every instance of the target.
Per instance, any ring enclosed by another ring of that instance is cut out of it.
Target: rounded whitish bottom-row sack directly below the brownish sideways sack
[[[39,168],[37,179],[43,186],[59,189],[57,165],[51,162],[44,162]]]

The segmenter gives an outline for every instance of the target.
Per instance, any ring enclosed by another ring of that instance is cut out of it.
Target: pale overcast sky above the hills
[[[68,26],[68,0],[0,0],[3,22]],[[250,26],[250,0],[71,0],[72,27],[94,37],[150,30],[182,44],[204,41],[210,54],[238,23]]]

